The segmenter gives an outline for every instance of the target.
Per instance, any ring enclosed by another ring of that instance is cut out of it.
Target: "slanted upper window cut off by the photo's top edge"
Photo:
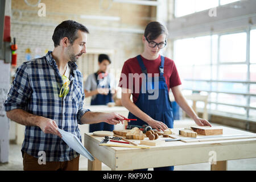
[[[175,17],[185,16],[238,0],[175,0]]]

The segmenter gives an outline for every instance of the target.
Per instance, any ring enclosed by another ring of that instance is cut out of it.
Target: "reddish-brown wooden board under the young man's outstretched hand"
[[[191,129],[199,135],[222,135],[222,127],[191,126]]]

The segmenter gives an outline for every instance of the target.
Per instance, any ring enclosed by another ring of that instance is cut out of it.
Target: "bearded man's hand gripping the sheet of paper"
[[[57,135],[61,138],[61,134],[58,131],[58,126],[52,119],[41,117],[38,126],[43,131],[43,133]]]

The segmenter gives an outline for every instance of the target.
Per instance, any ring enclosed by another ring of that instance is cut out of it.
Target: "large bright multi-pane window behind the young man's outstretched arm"
[[[255,49],[256,30],[175,40],[184,92],[208,94],[209,110],[256,119]]]

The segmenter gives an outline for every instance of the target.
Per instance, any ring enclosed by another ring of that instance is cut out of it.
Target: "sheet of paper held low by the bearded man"
[[[79,138],[76,137],[76,135],[73,135],[72,133],[68,133],[67,131],[58,129],[62,138],[65,143],[68,144],[69,147],[71,147],[73,150],[78,152],[79,154],[85,156],[85,158],[89,159],[90,161],[93,161],[94,158],[90,152],[88,152],[84,146],[82,146],[82,143],[80,142]]]

